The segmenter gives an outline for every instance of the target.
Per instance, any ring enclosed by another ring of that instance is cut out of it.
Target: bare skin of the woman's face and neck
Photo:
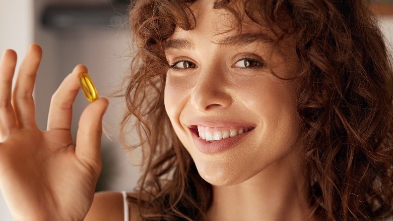
[[[238,29],[228,32],[236,24],[231,15],[213,9],[212,1],[192,7],[195,29],[177,28],[167,43],[171,68],[165,107],[199,174],[213,185],[208,220],[312,220],[300,157],[298,82],[277,77],[297,73],[292,40],[218,44],[239,34]],[[247,19],[242,27],[242,34],[277,38]],[[197,126],[211,131],[254,129],[241,139],[227,138],[233,142],[211,153],[200,146],[214,148],[214,142],[223,140],[203,141],[195,132]]]

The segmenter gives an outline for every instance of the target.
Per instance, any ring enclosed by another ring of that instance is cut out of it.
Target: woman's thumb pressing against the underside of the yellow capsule
[[[79,120],[76,140],[76,155],[97,173],[101,172],[102,117],[108,107],[108,100],[99,98],[89,104]]]

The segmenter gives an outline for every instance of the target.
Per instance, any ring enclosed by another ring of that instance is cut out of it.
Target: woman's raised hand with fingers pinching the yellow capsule
[[[35,120],[33,88],[41,61],[29,47],[14,90],[17,54],[6,50],[0,62],[0,188],[15,220],[83,220],[101,172],[100,141],[105,98],[89,104],[71,135],[72,104],[79,91],[78,65],[53,94],[47,131]]]

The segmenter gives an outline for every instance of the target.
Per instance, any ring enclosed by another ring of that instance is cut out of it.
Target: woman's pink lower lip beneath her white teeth
[[[235,137],[224,138],[222,140],[215,140],[212,143],[200,138],[196,134],[192,134],[192,139],[197,149],[202,153],[215,154],[232,149],[233,147],[236,146],[236,143],[240,142],[249,133],[251,133],[251,131],[244,134],[237,135]]]

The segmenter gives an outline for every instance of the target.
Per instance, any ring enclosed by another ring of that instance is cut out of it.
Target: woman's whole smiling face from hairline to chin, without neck
[[[213,1],[192,9],[195,29],[177,28],[165,44],[165,108],[200,175],[233,185],[268,167],[296,166],[297,82],[279,78],[297,74],[291,40],[277,43],[247,20],[239,33],[234,17],[213,9]]]

